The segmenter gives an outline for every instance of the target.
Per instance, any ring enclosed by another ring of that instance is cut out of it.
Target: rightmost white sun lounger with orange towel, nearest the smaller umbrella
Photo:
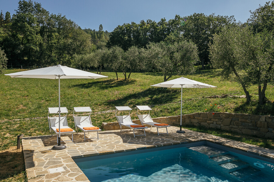
[[[165,133],[159,133],[158,128],[166,128],[166,130],[167,130],[167,127],[170,127],[170,126],[169,125],[167,125],[167,126],[157,126],[157,125],[155,125],[155,124],[160,124],[160,123],[156,123],[152,120],[152,118],[150,116],[150,110],[152,110],[152,109],[149,106],[136,106],[136,107],[137,107],[137,116],[138,116],[139,120],[141,121],[142,125],[146,124],[146,125],[151,126],[150,130],[153,126],[155,126],[157,128],[158,135],[159,134],[165,134]],[[141,111],[142,110],[149,110],[149,114],[138,114],[138,109],[141,110]],[[167,132],[167,134],[168,134],[168,132]]]

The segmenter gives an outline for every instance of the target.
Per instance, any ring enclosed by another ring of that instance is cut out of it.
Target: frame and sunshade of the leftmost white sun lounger
[[[61,107],[60,110],[61,110],[60,113],[66,113],[66,115],[61,116],[60,119],[64,120],[63,122],[65,122],[66,126],[68,126],[68,120],[67,120],[68,110],[67,110],[66,107]],[[51,119],[58,119],[58,122],[59,122],[59,116],[58,117],[50,117],[49,114],[59,114],[59,107],[49,107],[48,112],[47,112],[49,130],[50,130],[50,132],[51,132],[51,130],[53,130],[55,132],[55,134],[57,136],[57,143],[58,143],[58,134],[59,134],[59,132],[57,132],[57,130],[54,130],[54,128],[51,126]],[[60,122],[61,122],[61,120],[60,120]],[[68,127],[68,128],[70,128],[70,127]],[[61,127],[60,127],[60,129],[61,129]],[[73,142],[73,133],[75,133],[74,130],[73,131],[67,131],[67,132],[61,132],[61,134],[71,134],[71,137],[72,137],[72,140],[63,140],[62,142],[66,142],[66,141],[72,141]],[[51,132],[51,136],[52,136],[52,132]]]

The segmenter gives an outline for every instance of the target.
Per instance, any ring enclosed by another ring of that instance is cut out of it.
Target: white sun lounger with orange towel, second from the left
[[[86,127],[95,127],[91,123],[90,114],[88,116],[74,116],[74,112],[76,112],[76,113],[79,113],[79,112],[91,113],[91,111],[92,110],[90,109],[90,107],[74,107],[74,111],[73,111],[73,119],[74,119],[76,132],[78,134],[78,128],[84,132],[84,141],[86,141],[86,135],[85,135],[86,132],[95,132],[95,131],[97,132],[97,140],[99,140],[98,131],[101,131],[101,129],[85,130],[84,128],[86,128]],[[87,138],[87,139],[93,139],[93,138]]]

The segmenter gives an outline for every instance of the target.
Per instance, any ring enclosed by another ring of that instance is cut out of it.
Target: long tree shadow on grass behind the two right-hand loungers
[[[134,99],[134,105],[156,105],[162,103],[168,103],[174,100],[174,98],[179,96],[179,92],[177,89],[167,89],[167,88],[149,88],[142,92],[129,94],[125,97],[108,100],[106,102],[107,105],[111,106],[123,106],[128,101]],[[146,99],[144,103],[142,98]]]

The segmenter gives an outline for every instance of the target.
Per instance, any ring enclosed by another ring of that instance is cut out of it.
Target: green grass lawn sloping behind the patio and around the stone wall
[[[22,71],[9,69],[5,74]],[[131,78],[124,80],[123,74],[118,73],[116,80],[113,72],[102,72],[108,78],[100,79],[61,79],[61,106],[67,107],[68,122],[74,128],[73,107],[90,106],[93,110],[92,121],[95,126],[102,122],[116,121],[115,113],[97,113],[114,110],[114,106],[149,105],[152,117],[180,115],[181,89],[151,87],[150,85],[163,82],[160,73],[132,73]],[[171,79],[180,76],[173,76]],[[198,71],[192,75],[184,75],[189,79],[217,86],[205,89],[183,89],[183,113],[196,112],[228,112],[274,115],[274,86],[268,84],[266,97],[270,100],[263,106],[258,105],[258,86],[248,88],[251,103],[246,104],[244,98],[204,98],[213,95],[244,95],[241,86],[234,82],[222,80],[220,70]],[[58,107],[58,80],[11,78],[0,75],[0,150],[16,146],[16,136],[48,135],[47,108]],[[217,104],[220,109],[211,107]],[[137,119],[136,109],[131,112],[132,119]],[[274,149],[273,140],[258,139],[227,133],[220,130],[204,130],[191,128],[224,138],[230,138],[261,147]],[[18,177],[18,180],[17,178]],[[24,170],[17,172],[15,178],[0,181],[23,181]]]

